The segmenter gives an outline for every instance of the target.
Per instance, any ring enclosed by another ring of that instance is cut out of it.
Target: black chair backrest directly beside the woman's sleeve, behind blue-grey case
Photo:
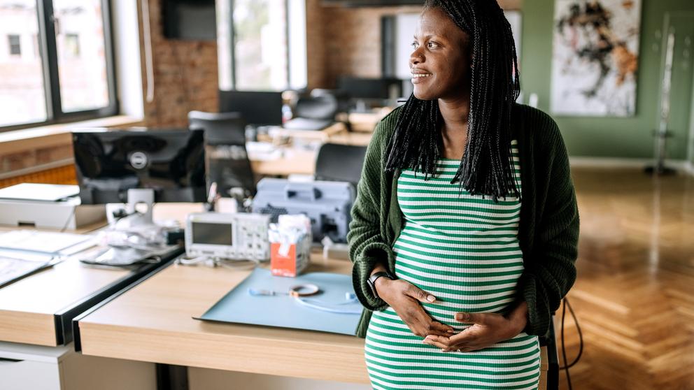
[[[350,182],[356,188],[367,147],[325,143],[316,157],[316,180]]]

